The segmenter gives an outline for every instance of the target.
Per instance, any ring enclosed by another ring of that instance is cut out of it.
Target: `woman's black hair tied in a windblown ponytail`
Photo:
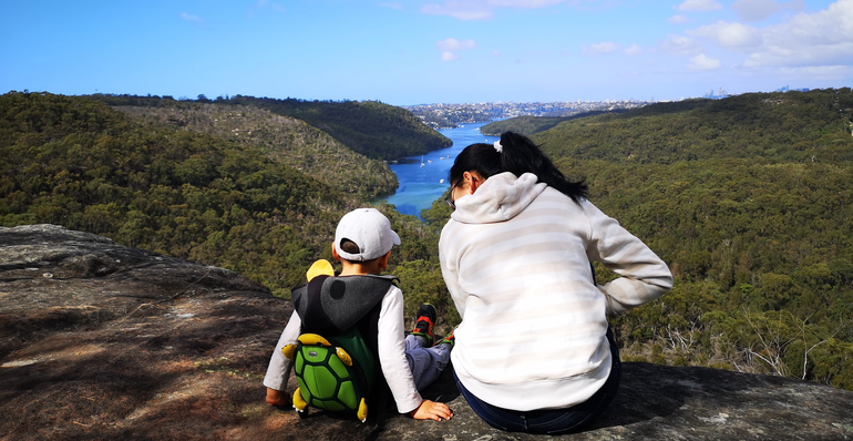
[[[456,156],[450,168],[451,185],[459,185],[465,172],[474,171],[489,178],[499,173],[512,172],[515,176],[533,173],[549,187],[554,187],[576,203],[587,197],[584,181],[572,182],[542,153],[539,146],[527,136],[514,132],[501,135],[499,152],[494,144],[471,144]]]

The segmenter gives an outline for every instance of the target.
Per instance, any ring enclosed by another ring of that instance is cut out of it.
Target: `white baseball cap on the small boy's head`
[[[343,239],[356,243],[360,253],[352,254],[340,249]],[[394,245],[400,245],[400,236],[391,229],[388,217],[376,208],[358,208],[347,213],[335,230],[335,249],[341,258],[350,261],[364,261],[384,256]]]

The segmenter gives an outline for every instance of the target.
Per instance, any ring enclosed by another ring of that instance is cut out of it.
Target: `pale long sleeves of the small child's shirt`
[[[405,359],[403,317],[403,293],[397,286],[391,286],[382,298],[382,306],[379,311],[379,365],[397,402],[397,410],[400,413],[408,413],[418,409],[423,399],[414,386],[412,371]],[[269,360],[267,375],[264,377],[264,386],[287,391],[292,361],[284,356],[281,348],[296,343],[301,326],[299,315],[294,311]]]

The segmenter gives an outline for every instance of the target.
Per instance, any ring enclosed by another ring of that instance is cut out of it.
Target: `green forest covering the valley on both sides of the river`
[[[0,225],[96,233],[240,271],[288,297],[311,261],[331,259],[340,216],[395,185],[377,160],[408,150],[361,151],[287,109],[314,102],[240,100],[0,96]],[[398,121],[394,112],[383,114]],[[527,117],[525,130],[676,276],[670,294],[612,321],[625,360],[853,389],[850,89],[551,120]],[[408,311],[430,300],[440,322],[458,322],[438,264],[450,208],[439,198],[423,222],[380,209],[403,243],[389,271]],[[614,277],[603,267],[597,276]]]

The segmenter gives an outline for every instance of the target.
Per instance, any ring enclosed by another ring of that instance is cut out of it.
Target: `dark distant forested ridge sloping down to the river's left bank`
[[[174,106],[175,100],[158,96],[93,95],[110,105]],[[181,101],[189,103],[192,101]],[[305,101],[235,95],[198,102],[251,106],[295,117],[319,129],[339,143],[374,160],[393,161],[444,148],[451,141],[414,117],[409,111],[377,101]]]

